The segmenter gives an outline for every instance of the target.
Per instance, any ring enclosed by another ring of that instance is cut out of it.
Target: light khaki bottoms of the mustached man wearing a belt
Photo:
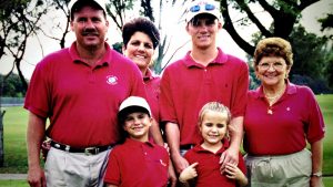
[[[100,187],[110,149],[97,155],[68,153],[51,147],[44,166],[48,187]]]

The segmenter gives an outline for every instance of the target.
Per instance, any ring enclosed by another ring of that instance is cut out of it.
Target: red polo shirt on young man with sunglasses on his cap
[[[243,116],[249,89],[248,64],[219,49],[215,60],[203,66],[190,52],[167,66],[161,79],[160,113],[162,122],[180,128],[180,145],[201,139],[198,114],[208,102],[221,102],[232,116]]]

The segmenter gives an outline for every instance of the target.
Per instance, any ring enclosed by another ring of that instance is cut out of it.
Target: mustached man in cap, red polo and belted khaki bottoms
[[[38,63],[26,95],[30,186],[98,186],[109,150],[119,141],[120,103],[131,95],[145,97],[138,66],[105,43],[104,2],[71,4],[77,41]],[[43,170],[40,145],[46,135],[52,147]]]

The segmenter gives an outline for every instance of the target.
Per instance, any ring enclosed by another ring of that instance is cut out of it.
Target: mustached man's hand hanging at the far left
[[[27,180],[31,187],[47,187],[44,170],[40,166],[29,167]]]

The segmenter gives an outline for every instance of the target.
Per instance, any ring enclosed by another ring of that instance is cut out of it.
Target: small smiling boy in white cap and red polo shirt
[[[109,156],[107,186],[167,186],[169,154],[164,147],[149,142],[152,117],[147,101],[128,97],[120,105],[118,118],[123,139]]]

